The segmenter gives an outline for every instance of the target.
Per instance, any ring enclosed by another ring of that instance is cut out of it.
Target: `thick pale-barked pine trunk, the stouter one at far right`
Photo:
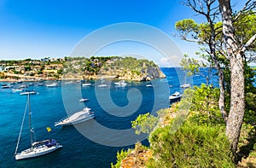
[[[237,150],[241,124],[244,115],[244,69],[241,51],[235,38],[232,25],[230,0],[218,0],[223,21],[223,33],[226,51],[230,58],[230,113],[226,122],[226,135],[230,140],[233,152]]]

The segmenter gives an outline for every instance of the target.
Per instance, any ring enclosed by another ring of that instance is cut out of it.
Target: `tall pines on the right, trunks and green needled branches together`
[[[175,25],[176,29],[180,38],[206,47],[204,58],[207,58],[210,65],[218,71],[220,88],[218,106],[227,124],[226,135],[236,152],[245,112],[244,90],[247,90],[247,79],[244,72],[247,73],[247,62],[253,60],[248,55],[253,53],[255,55],[256,3],[253,0],[247,0],[245,6],[238,12],[232,11],[230,0],[187,0],[184,4],[195,13],[204,16],[206,22],[199,24],[191,19],[180,20]],[[195,72],[199,66],[197,61],[191,61],[191,59],[184,62],[183,64],[191,72]],[[186,63],[193,65],[189,66]],[[228,81],[226,94],[224,81]],[[224,95],[228,96],[228,99],[225,100]],[[227,105],[227,102],[230,105]],[[224,107],[230,109],[229,115]]]

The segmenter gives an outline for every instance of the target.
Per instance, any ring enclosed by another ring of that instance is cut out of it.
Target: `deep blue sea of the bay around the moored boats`
[[[161,108],[170,107],[168,96],[175,91],[183,93],[181,84],[207,83],[207,69],[192,77],[185,77],[186,72],[180,67],[163,67],[161,70],[166,78],[148,82],[125,81],[125,87],[117,87],[114,85],[116,80],[107,79],[107,88],[99,88],[100,81],[96,80],[87,81],[94,84],[90,87],[82,87],[78,81],[72,84],[56,81],[58,86],[54,88],[46,87],[54,81],[44,81],[43,86],[38,86],[38,82],[23,82],[32,83],[26,90],[37,93],[30,96],[34,139],[54,138],[63,146],[51,154],[33,159],[15,160],[27,96],[12,91],[20,84],[13,84],[12,89],[0,88],[0,167],[110,167],[112,162],[116,162],[116,154],[121,149],[134,148],[135,142],[148,145],[147,135],[136,136],[131,129],[131,121],[139,114],[155,114]],[[209,84],[217,87],[218,78],[214,72],[211,74]],[[147,87],[147,84],[153,87]],[[89,98],[89,101],[79,102],[82,97]],[[84,107],[90,107],[96,118],[80,125],[55,127],[56,121]],[[26,112],[18,152],[30,148],[27,116]]]

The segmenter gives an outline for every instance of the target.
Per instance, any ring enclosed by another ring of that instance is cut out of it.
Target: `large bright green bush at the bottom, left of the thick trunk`
[[[230,143],[220,125],[197,125],[187,120],[171,133],[158,128],[149,137],[154,159],[149,167],[234,167]]]

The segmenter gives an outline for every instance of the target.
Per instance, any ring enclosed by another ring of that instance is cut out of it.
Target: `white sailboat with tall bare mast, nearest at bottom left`
[[[24,120],[26,117],[26,110],[23,114],[22,123],[20,126],[20,135],[18,138],[18,142],[15,149],[15,159],[29,159],[38,157],[44,154],[49,154],[51,152],[54,152],[58,148],[62,148],[62,146],[57,143],[54,139],[44,140],[42,142],[34,142],[33,141],[33,133],[34,130],[32,128],[32,119],[31,119],[31,104],[30,104],[30,94],[27,95],[27,102],[26,102],[26,108],[28,107],[28,116],[29,116],[29,130],[30,130],[30,141],[31,141],[31,148],[28,148],[26,150],[21,151],[20,153],[17,153],[20,143],[20,136],[24,125]]]

